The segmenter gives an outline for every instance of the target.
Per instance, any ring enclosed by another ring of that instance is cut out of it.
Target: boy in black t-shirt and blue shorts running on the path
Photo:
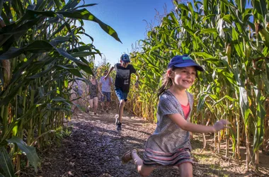
[[[115,78],[115,93],[118,96],[120,101],[119,103],[119,115],[116,116],[116,127],[117,130],[122,130],[122,115],[123,115],[123,108],[125,106],[125,102],[127,101],[127,96],[130,90],[130,79],[131,74],[135,74],[137,76],[137,81],[135,82],[135,86],[137,87],[139,84],[139,76],[135,68],[130,64],[130,57],[127,54],[123,54],[120,57],[120,63],[111,67],[108,74],[104,77],[107,79],[110,72],[115,69],[116,71],[116,78]]]

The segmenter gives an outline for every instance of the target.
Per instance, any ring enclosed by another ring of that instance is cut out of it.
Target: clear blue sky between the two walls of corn
[[[132,44],[135,45],[135,42],[145,38],[145,21],[159,24],[157,21],[154,22],[156,10],[163,15],[165,4],[167,12],[173,9],[172,0],[86,0],[86,4],[95,3],[97,5],[88,7],[88,11],[110,25],[122,41],[120,43],[105,33],[97,23],[84,21],[86,33],[94,39],[93,45],[103,53],[103,57],[110,64],[119,62],[120,55],[130,52]],[[91,43],[91,39],[85,35],[82,36],[82,41],[86,44]],[[102,61],[101,57],[96,56],[96,64]]]

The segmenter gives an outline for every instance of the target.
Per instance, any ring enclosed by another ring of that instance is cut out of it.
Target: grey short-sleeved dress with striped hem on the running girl
[[[193,110],[193,96],[188,95],[190,112]],[[146,142],[143,163],[146,166],[178,166],[183,162],[193,160],[190,156],[190,133],[182,130],[167,115],[179,113],[183,115],[183,108],[170,91],[164,91],[160,96],[157,110],[157,127],[153,135]],[[190,113],[185,120],[190,121]]]

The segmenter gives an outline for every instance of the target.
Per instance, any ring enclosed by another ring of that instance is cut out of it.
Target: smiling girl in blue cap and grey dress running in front
[[[181,176],[193,176],[190,132],[217,132],[229,124],[227,120],[219,120],[214,126],[190,122],[193,95],[186,89],[194,84],[197,71],[204,69],[188,55],[177,55],[169,62],[158,93],[156,130],[147,139],[143,159],[135,148],[122,156],[123,164],[133,160],[141,176],[149,176],[159,166],[178,166]]]

